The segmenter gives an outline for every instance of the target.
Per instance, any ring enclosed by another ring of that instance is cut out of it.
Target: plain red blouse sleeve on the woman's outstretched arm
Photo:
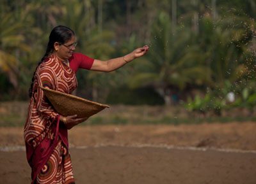
[[[94,59],[84,55],[83,53],[73,53],[70,57],[70,68],[76,73],[79,68],[91,69]]]

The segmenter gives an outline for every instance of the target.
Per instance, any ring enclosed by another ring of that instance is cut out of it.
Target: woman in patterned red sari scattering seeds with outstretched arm
[[[74,183],[67,129],[86,120],[77,118],[76,115],[59,115],[47,101],[40,86],[70,94],[77,87],[77,69],[114,71],[145,55],[148,46],[137,48],[124,57],[107,61],[75,53],[75,49],[74,31],[62,25],[54,27],[49,36],[46,53],[38,63],[32,78],[29,89],[31,99],[24,127],[32,183]]]

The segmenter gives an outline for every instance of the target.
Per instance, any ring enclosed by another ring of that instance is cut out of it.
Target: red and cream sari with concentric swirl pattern
[[[40,86],[70,94],[77,87],[76,74],[55,55],[36,69],[24,127],[32,183],[74,183],[67,129]]]

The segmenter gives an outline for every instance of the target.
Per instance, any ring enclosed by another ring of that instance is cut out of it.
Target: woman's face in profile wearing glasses
[[[54,47],[56,50],[56,55],[60,59],[69,59],[72,56],[73,52],[76,50],[76,37],[72,36],[72,38],[64,44],[55,43]]]

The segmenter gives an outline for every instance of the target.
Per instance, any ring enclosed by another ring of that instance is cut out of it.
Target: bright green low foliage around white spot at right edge
[[[234,93],[235,101],[230,102],[227,95],[233,91],[236,92]],[[204,97],[195,96],[194,99],[189,97],[184,106],[189,111],[202,114],[213,112],[216,115],[221,115],[221,111],[231,108],[246,108],[253,113],[256,106],[255,83],[246,83],[244,87],[244,85],[232,85],[229,81],[225,81],[223,88],[212,90]]]

